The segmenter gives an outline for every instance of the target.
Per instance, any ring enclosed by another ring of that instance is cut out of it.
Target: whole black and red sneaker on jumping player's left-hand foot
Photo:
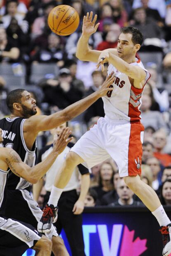
[[[48,204],[43,209],[42,218],[38,222],[38,231],[44,233],[50,230],[52,223],[57,221],[58,207],[54,207],[52,204]]]

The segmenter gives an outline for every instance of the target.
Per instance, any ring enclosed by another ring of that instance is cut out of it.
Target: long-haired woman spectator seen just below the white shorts
[[[97,192],[98,200],[101,200],[102,196],[109,191],[114,189],[113,186],[113,175],[114,170],[110,163],[102,163],[100,167],[100,179],[99,185],[97,187],[93,187]]]

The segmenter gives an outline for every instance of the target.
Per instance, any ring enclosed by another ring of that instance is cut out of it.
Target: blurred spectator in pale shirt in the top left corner
[[[6,29],[9,26],[11,19],[15,18],[18,22],[18,25],[21,27],[22,31],[24,33],[27,33],[29,29],[29,24],[26,20],[24,20],[23,14],[17,12],[17,5],[18,5],[17,0],[7,1],[7,4],[6,4],[7,14],[2,17],[4,28]]]

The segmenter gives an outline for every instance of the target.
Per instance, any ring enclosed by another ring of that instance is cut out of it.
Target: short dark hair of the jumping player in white
[[[142,33],[139,29],[133,27],[133,26],[126,26],[124,28],[121,29],[121,33],[124,33],[124,34],[132,34],[132,41],[133,41],[133,44],[137,44],[139,43],[140,45],[142,45],[142,42],[144,40],[143,36],[142,36]]]

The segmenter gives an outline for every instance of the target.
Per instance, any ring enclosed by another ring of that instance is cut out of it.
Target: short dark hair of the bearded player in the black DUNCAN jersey
[[[25,89],[15,89],[13,91],[10,91],[7,95],[6,103],[7,107],[9,108],[10,112],[13,112],[13,104],[16,103],[21,103],[21,97],[22,93],[26,91]]]

